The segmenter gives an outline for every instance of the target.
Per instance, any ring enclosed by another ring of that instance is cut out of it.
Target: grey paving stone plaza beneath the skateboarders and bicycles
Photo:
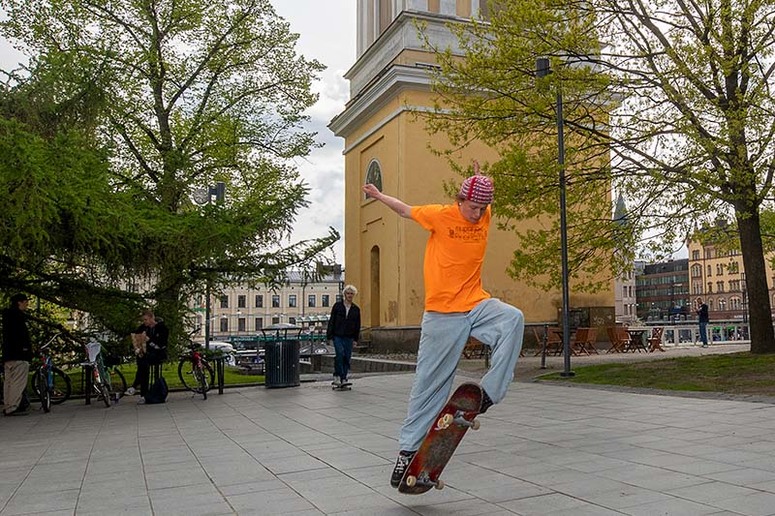
[[[445,489],[399,494],[411,380],[5,417],[0,515],[775,514],[775,404],[522,382],[467,434]]]

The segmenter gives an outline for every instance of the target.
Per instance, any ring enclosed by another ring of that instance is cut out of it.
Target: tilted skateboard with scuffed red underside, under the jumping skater
[[[406,468],[398,491],[404,494],[422,494],[431,488],[444,488],[439,479],[441,472],[455,453],[469,428],[479,429],[482,406],[482,388],[475,383],[462,384],[449,398],[433,420],[420,448]]]

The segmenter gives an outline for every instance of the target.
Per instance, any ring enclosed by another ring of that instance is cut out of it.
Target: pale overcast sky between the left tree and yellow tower
[[[293,242],[315,238],[334,227],[342,239],[334,246],[338,263],[344,262],[344,141],[328,129],[331,119],[344,109],[349,85],[344,73],[355,62],[355,2],[353,0],[271,0],[277,14],[298,33],[297,52],[327,66],[313,86],[320,94],[310,109],[307,129],[318,133],[323,144],[296,164],[310,187],[309,208],[296,219]],[[0,41],[0,68],[14,68],[23,56]]]

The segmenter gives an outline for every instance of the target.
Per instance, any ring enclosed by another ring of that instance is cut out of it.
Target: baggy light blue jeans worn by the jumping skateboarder
[[[524,331],[522,312],[495,298],[485,299],[470,312],[425,312],[409,408],[398,437],[399,449],[415,451],[420,447],[433,418],[449,398],[469,336],[490,347],[490,369],[481,385],[493,403],[501,401],[514,378]]]

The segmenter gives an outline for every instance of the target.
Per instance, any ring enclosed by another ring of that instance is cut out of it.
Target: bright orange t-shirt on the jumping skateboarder
[[[482,289],[482,263],[490,208],[472,224],[457,205],[414,206],[411,217],[431,232],[425,245],[425,310],[468,312],[490,297]]]

